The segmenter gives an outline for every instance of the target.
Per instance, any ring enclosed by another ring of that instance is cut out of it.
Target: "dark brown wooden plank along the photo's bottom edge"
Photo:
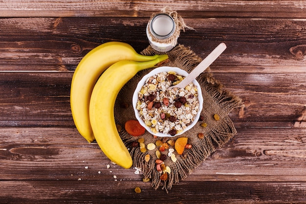
[[[183,181],[167,194],[141,181],[0,181],[2,203],[303,204],[305,182]],[[116,187],[117,186],[117,187]],[[142,189],[134,192],[135,186]],[[35,194],[35,196],[33,196]]]

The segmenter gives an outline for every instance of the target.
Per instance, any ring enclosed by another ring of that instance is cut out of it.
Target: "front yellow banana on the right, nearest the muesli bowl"
[[[130,168],[132,159],[116,128],[114,119],[116,97],[138,71],[152,68],[166,59],[168,55],[160,55],[148,62],[119,61],[101,75],[93,88],[89,117],[95,139],[104,154],[123,168]]]

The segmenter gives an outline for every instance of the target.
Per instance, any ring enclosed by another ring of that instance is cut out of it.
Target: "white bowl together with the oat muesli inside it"
[[[168,89],[187,75],[180,68],[159,67],[139,81],[133,94],[135,116],[154,136],[181,135],[197,123],[203,106],[197,81],[185,89]]]

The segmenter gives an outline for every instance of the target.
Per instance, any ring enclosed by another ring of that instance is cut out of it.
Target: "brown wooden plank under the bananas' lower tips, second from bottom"
[[[237,131],[184,181],[306,182],[305,128]],[[0,181],[142,180],[133,167],[112,164],[74,128],[2,128],[0,137]]]

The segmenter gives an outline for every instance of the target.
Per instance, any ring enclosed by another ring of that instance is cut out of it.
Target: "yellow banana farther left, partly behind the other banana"
[[[80,61],[72,77],[70,107],[76,128],[88,142],[95,139],[89,122],[89,100],[100,75],[121,60],[145,62],[157,57],[138,54],[127,43],[108,42],[89,51]]]

